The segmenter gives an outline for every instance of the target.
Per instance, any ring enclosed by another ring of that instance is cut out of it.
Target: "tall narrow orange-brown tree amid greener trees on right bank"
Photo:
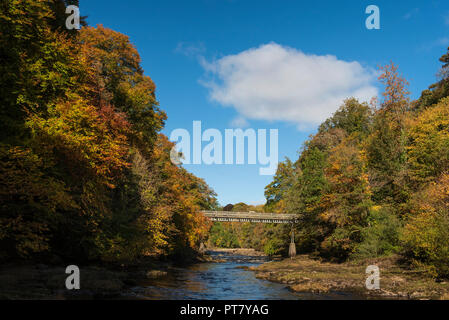
[[[345,139],[330,151],[325,174],[328,188],[319,218],[327,230],[320,251],[345,260],[361,241],[371,207],[368,174],[357,140]]]

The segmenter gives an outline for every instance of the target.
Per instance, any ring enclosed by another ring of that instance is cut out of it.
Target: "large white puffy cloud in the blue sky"
[[[212,100],[234,107],[242,118],[316,126],[348,97],[377,95],[375,72],[335,56],[308,55],[276,43],[212,62],[200,59],[213,77],[202,83]]]

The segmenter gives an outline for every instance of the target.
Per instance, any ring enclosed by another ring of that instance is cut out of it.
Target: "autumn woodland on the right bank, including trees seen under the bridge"
[[[348,98],[296,161],[279,164],[263,211],[300,215],[298,252],[332,261],[396,254],[449,277],[449,49],[440,61],[438,82],[416,101],[396,65],[381,67],[380,101]],[[268,254],[285,254],[290,232],[251,224],[212,231],[216,245]]]

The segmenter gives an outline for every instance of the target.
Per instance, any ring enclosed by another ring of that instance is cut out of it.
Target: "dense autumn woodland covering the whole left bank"
[[[187,255],[215,194],[170,161],[128,37],[67,30],[68,4],[0,3],[0,260]]]

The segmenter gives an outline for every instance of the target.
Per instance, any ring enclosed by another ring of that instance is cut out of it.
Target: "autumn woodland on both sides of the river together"
[[[136,48],[102,26],[66,30],[76,2],[0,2],[0,260],[133,261],[206,240],[284,254],[285,225],[215,223],[208,238],[199,210],[216,209],[215,194],[170,161]],[[449,51],[440,61],[416,101],[397,66],[382,67],[379,101],[348,97],[279,164],[265,206],[227,209],[299,214],[300,253],[395,254],[449,277]]]

